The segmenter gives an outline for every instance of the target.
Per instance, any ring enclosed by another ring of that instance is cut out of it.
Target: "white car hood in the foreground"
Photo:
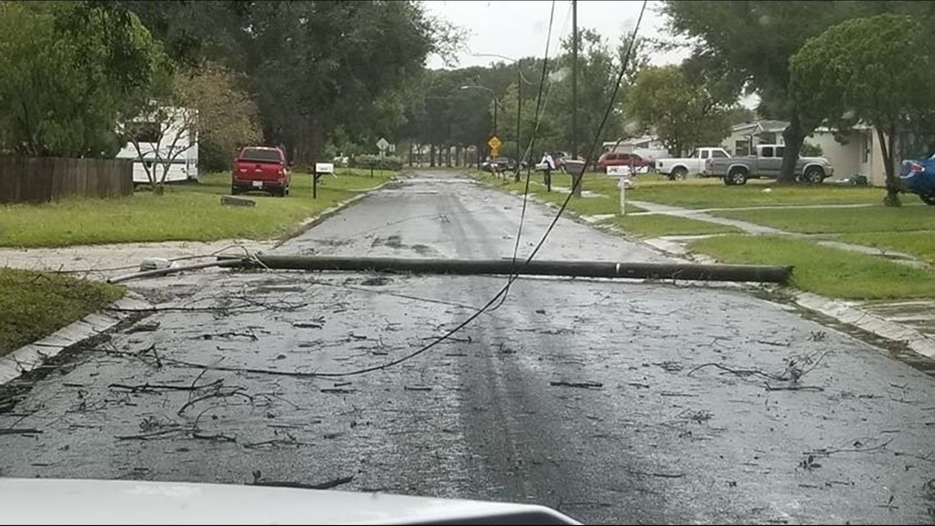
[[[269,486],[0,478],[11,524],[580,524],[529,504]]]

